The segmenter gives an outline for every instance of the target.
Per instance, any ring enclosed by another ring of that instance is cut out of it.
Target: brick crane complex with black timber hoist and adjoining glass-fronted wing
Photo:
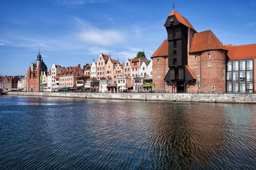
[[[164,26],[168,39],[151,57],[156,92],[254,91],[256,44],[225,46],[211,30],[197,32],[177,11]]]

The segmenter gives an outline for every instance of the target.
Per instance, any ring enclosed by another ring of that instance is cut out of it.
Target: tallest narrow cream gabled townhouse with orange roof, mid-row
[[[105,77],[105,65],[107,64],[109,59],[109,55],[105,55],[105,54],[99,54],[99,59],[97,61],[97,79],[101,79]]]

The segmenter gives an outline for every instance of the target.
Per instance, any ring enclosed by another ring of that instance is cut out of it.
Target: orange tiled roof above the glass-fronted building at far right
[[[229,59],[256,58],[256,44],[231,46],[227,50]]]

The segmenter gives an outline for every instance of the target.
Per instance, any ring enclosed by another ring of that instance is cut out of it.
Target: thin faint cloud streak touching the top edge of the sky
[[[84,5],[87,3],[107,3],[109,0],[57,0],[59,5],[63,6],[76,6]]]

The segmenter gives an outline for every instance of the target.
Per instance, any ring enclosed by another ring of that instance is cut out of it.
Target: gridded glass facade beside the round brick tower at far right
[[[227,93],[253,93],[253,64],[253,59],[237,59],[227,62]]]

